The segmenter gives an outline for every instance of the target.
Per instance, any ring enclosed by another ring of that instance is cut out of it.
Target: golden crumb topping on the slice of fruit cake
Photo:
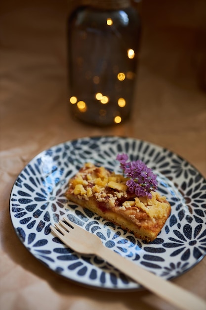
[[[137,212],[146,212],[150,218],[158,219],[166,216],[168,203],[165,196],[151,192],[150,199],[135,197],[128,191],[126,181],[127,178],[123,175],[86,163],[70,180],[69,191],[82,200],[94,196],[99,203],[105,203],[106,207],[119,207],[122,212],[135,208]]]

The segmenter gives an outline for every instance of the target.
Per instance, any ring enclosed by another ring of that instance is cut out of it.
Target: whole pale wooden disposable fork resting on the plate
[[[124,274],[145,288],[155,293],[168,303],[182,310],[206,310],[206,302],[191,292],[164,280],[155,274],[141,268],[132,261],[106,248],[100,238],[82,229],[80,226],[63,217],[59,224],[50,229],[64,244],[75,252],[96,255],[117,267]]]

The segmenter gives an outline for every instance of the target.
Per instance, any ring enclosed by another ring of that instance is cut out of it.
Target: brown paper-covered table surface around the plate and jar
[[[98,128],[68,108],[69,1],[8,0],[0,5],[0,308],[2,310],[170,310],[147,290],[83,288],[44,267],[20,243],[9,195],[41,151],[97,135],[168,148],[206,177],[206,2],[144,0],[142,43],[131,118]],[[167,2],[165,4],[165,2]],[[206,300],[206,258],[173,280]]]

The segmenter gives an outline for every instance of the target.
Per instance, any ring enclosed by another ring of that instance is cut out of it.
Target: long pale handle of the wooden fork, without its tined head
[[[143,269],[132,261],[120,256],[110,249],[102,246],[98,248],[96,255],[104,258],[107,262],[117,267],[124,274],[135,280],[145,288],[155,293],[168,303],[182,310],[206,310],[206,302],[186,291],[185,289],[173,284],[170,281]]]

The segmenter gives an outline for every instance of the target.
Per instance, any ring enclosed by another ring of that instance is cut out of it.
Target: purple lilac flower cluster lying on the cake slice
[[[135,193],[138,197],[148,196],[152,198],[151,191],[155,191],[158,186],[157,175],[153,173],[151,168],[141,160],[128,161],[126,154],[117,155],[120,166],[124,175],[129,178],[126,185],[131,193]]]

